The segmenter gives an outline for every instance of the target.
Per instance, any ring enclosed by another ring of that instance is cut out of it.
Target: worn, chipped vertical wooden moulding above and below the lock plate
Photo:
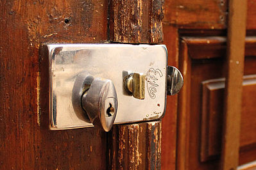
[[[163,0],[114,0],[108,7],[111,42],[163,41]],[[161,132],[161,121],[115,125],[108,134],[108,169],[160,169]]]

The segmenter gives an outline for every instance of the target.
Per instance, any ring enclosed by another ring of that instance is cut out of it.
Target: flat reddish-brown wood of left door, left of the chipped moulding
[[[105,42],[106,18],[107,1],[1,1],[0,169],[106,168],[105,132],[50,131],[38,101],[40,43]]]

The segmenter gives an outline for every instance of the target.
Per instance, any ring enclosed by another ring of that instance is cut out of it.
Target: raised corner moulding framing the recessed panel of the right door
[[[256,37],[246,37],[246,51],[245,56],[254,58],[256,56],[255,50]],[[206,49],[204,49],[206,48]],[[182,37],[180,40],[180,52],[179,52],[179,68],[184,76],[184,85],[178,95],[178,131],[177,131],[177,154],[176,154],[176,166],[177,169],[189,169],[189,135],[191,135],[189,126],[190,121],[190,105],[191,105],[191,66],[192,61],[196,62],[199,59],[201,61],[207,61],[206,59],[225,58],[226,38],[220,36],[212,37]],[[205,54],[207,52],[207,54]],[[224,54],[224,55],[223,55]],[[198,94],[199,95],[199,94]],[[200,113],[198,113],[200,114]],[[242,120],[243,121],[243,120]],[[205,140],[205,139],[202,139]],[[206,147],[206,146],[200,146]],[[254,147],[254,146],[253,146]],[[242,150],[246,150],[246,148]],[[214,152],[214,150],[212,150]],[[200,150],[198,150],[200,153]],[[202,154],[205,154],[202,152]],[[202,156],[203,157],[203,156]],[[205,157],[198,159],[212,160],[214,157]]]

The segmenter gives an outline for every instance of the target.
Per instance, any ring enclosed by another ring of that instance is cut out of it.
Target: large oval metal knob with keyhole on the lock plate
[[[83,114],[85,121],[108,132],[117,113],[117,94],[109,79],[94,78],[81,73],[73,87],[73,107],[76,114]]]

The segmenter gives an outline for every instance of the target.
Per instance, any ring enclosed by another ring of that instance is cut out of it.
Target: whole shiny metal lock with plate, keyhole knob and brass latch
[[[94,118],[101,124],[108,119],[102,116],[115,116],[114,124],[157,120],[164,116],[165,45],[47,44],[46,47],[52,130],[92,127]],[[88,76],[92,80],[84,81]],[[103,85],[113,84],[114,88],[100,86],[101,80]],[[171,82],[168,84],[173,86]],[[78,87],[81,89],[76,89]],[[99,96],[95,97],[96,94]],[[95,101],[91,102],[90,98]],[[108,131],[111,127],[103,129]]]

